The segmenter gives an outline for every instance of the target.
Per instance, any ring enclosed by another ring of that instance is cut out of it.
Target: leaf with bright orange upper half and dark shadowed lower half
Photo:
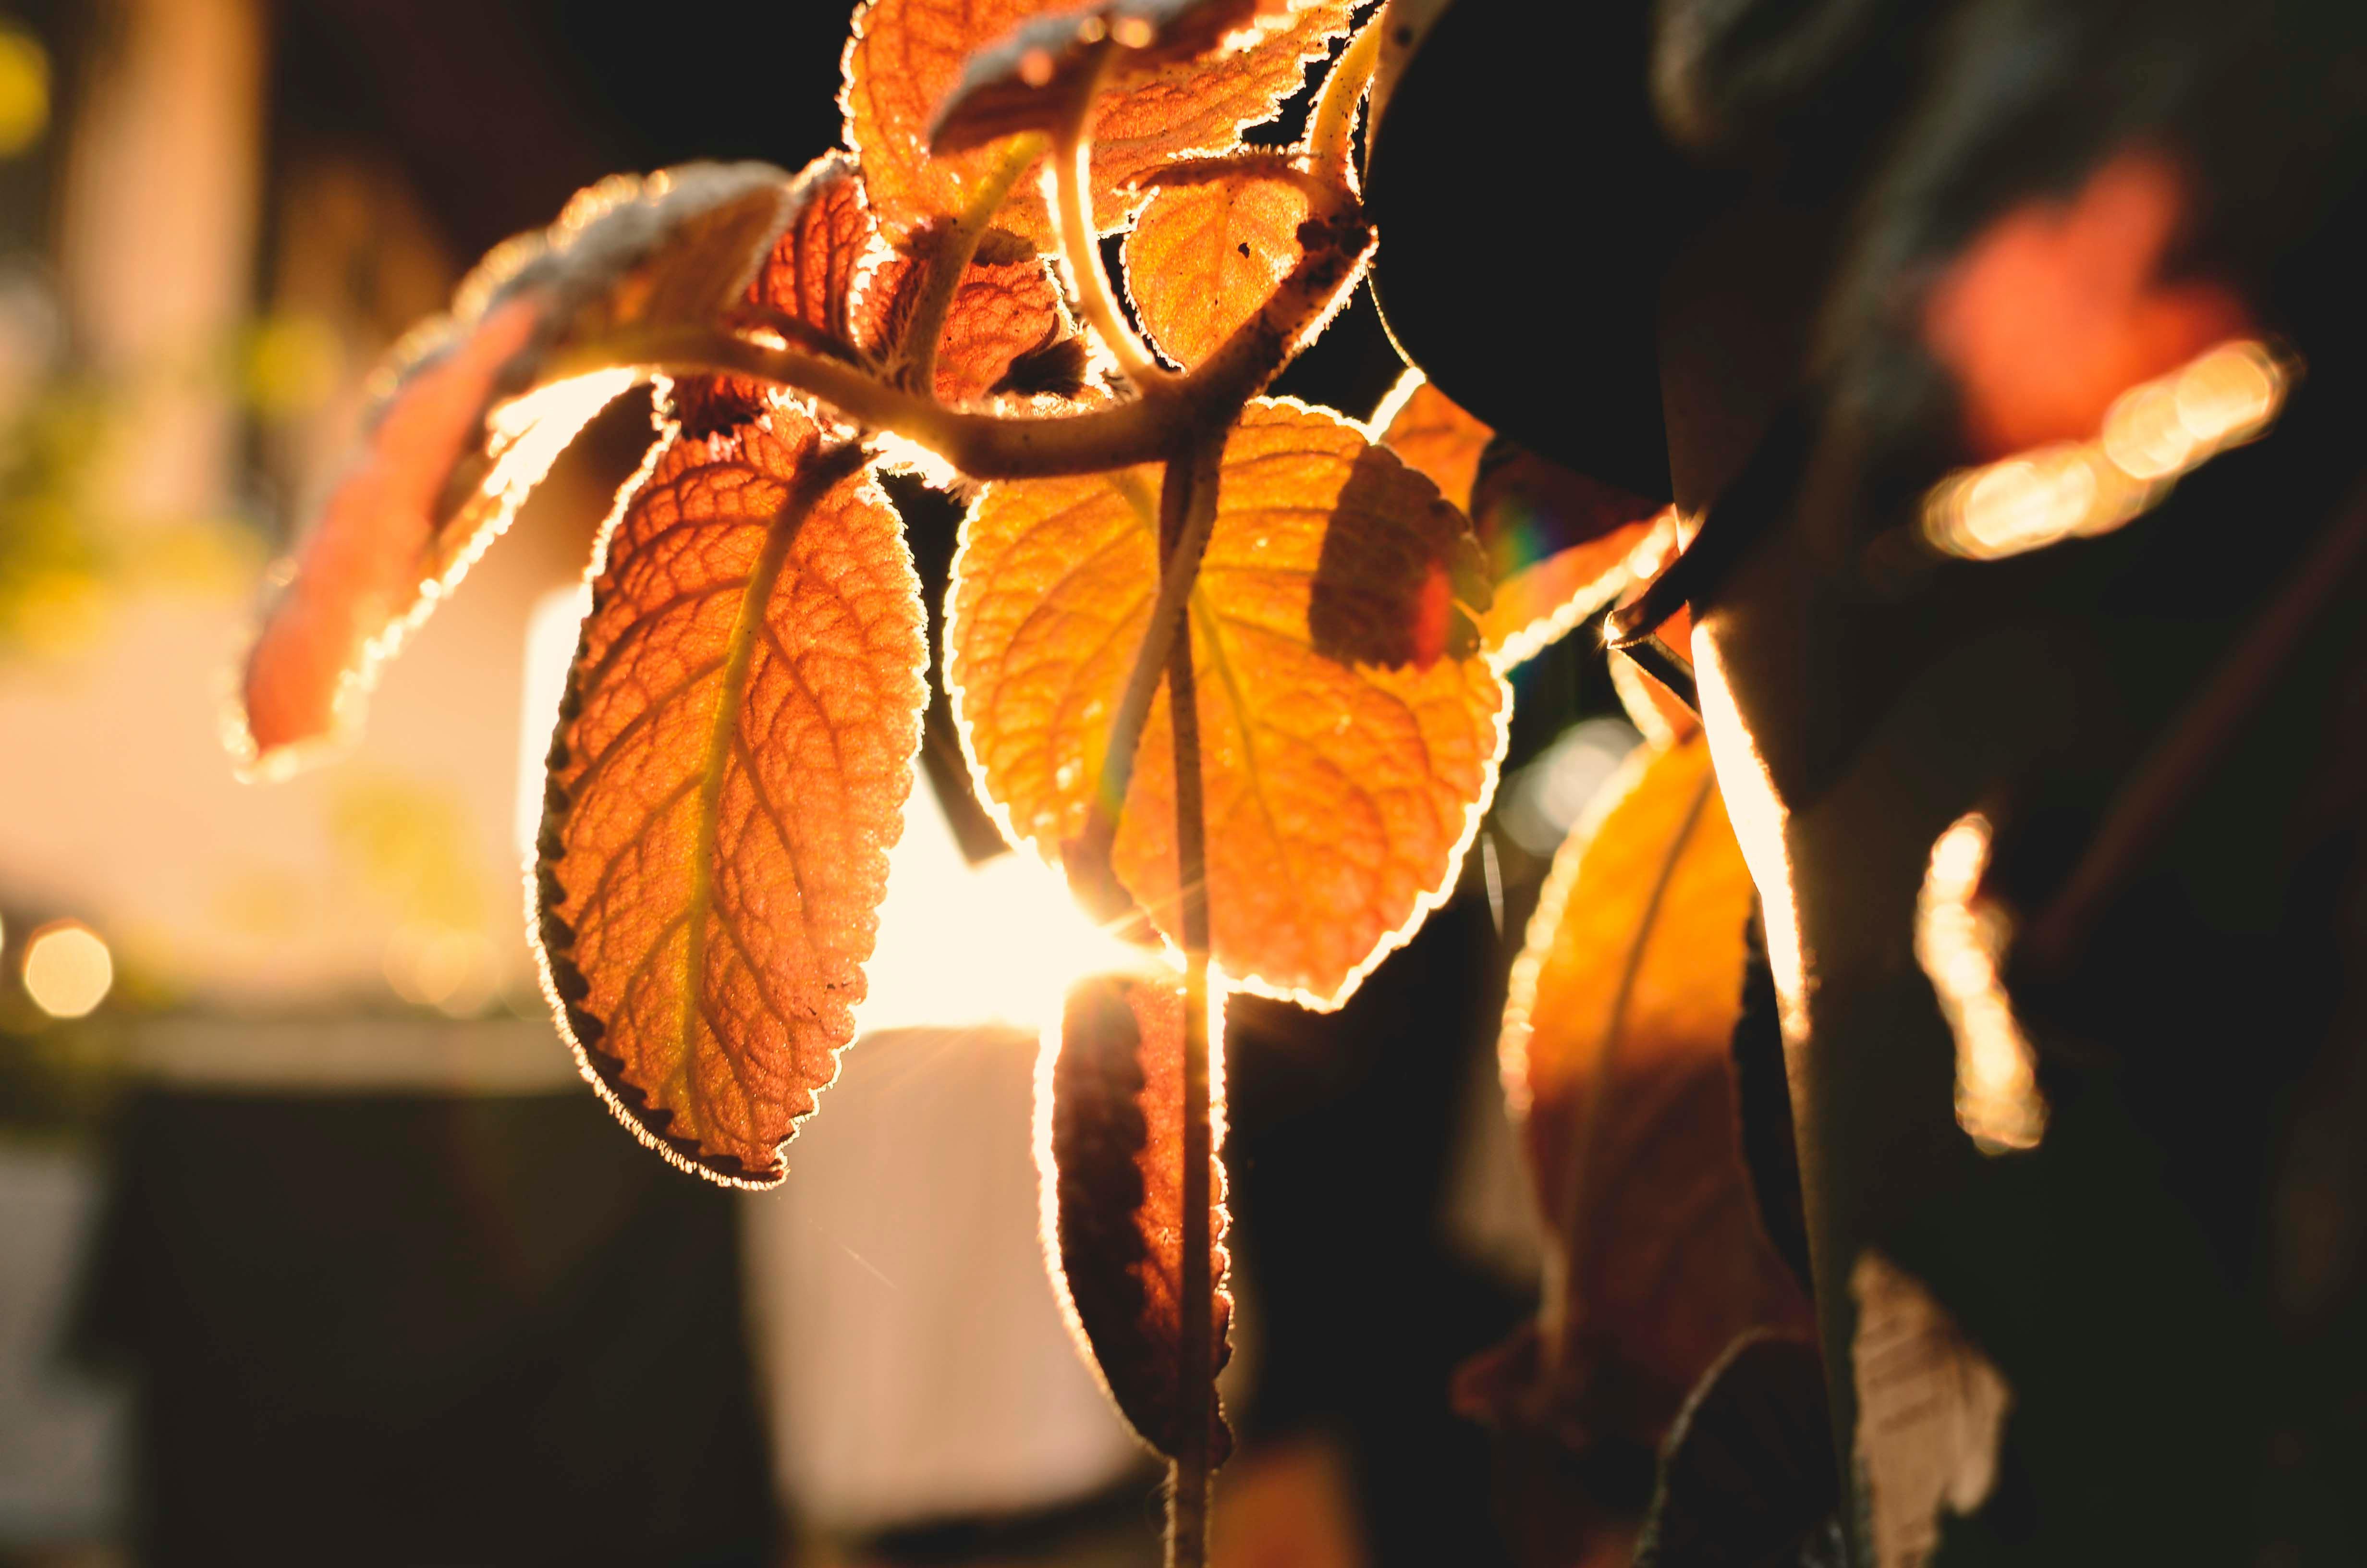
[[[1565,1428],[1659,1440],[1752,1326],[1808,1307],[1759,1229],[1728,1061],[1742,1014],[1742,865],[1709,744],[1640,751],[1555,857],[1513,969],[1503,1073],[1562,1270],[1541,1315]]]

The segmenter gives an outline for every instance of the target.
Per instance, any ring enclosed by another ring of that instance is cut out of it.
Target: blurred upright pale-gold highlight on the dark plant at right
[[[1981,900],[1988,817],[1958,817],[1931,846],[1915,900],[1915,962],[1955,1033],[1955,1123],[1984,1153],[2036,1149],[2047,1130],[2031,1042],[2014,1021],[1998,959],[2012,938],[2005,912]]]

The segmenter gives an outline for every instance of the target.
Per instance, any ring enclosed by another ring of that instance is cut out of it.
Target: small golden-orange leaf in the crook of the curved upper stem
[[[1297,263],[1304,220],[1307,192],[1281,180],[1165,182],[1127,234],[1127,291],[1150,341],[1186,367],[1214,353]]]

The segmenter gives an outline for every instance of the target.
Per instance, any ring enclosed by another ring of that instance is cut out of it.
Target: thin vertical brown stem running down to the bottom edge
[[[1160,488],[1162,561],[1181,576],[1198,573],[1198,557],[1184,559],[1188,521],[1214,514],[1200,500],[1202,455],[1221,450],[1221,431],[1193,443],[1167,464]],[[1160,585],[1165,590],[1165,583]],[[1188,583],[1186,583],[1188,587]],[[1176,763],[1176,895],[1184,926],[1184,1213],[1181,1267],[1176,1281],[1176,1433],[1174,1487],[1167,1499],[1167,1568],[1202,1568],[1207,1561],[1210,1438],[1217,1419],[1217,1303],[1210,1236],[1210,1082],[1207,1082],[1207,822],[1200,803],[1200,699],[1193,685],[1191,635],[1174,637],[1167,654],[1167,708]],[[1198,1412],[1198,1414],[1193,1414]]]

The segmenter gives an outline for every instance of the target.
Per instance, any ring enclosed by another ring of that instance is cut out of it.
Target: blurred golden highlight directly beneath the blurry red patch
[[[2289,369],[2265,343],[2220,343],[2121,393],[2095,441],[1939,481],[1924,497],[1924,538],[1946,554],[1995,561],[2109,533],[2211,457],[2260,436],[2289,388]]]

